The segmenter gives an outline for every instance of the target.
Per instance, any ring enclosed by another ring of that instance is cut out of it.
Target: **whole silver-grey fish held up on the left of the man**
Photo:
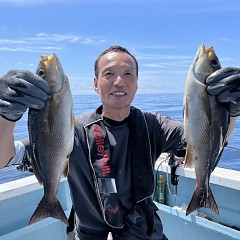
[[[36,73],[49,84],[50,95],[43,109],[29,109],[28,115],[33,171],[44,187],[44,196],[29,224],[53,217],[68,225],[57,190],[61,176],[68,172],[68,157],[73,149],[72,94],[56,54],[41,56]]]

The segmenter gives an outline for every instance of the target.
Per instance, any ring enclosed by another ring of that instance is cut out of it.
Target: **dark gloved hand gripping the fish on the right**
[[[230,116],[240,115],[240,68],[219,69],[207,78],[206,84],[209,94],[216,95],[219,102],[229,103]]]

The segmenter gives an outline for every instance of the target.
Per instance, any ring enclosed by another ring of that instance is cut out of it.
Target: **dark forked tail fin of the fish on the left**
[[[28,225],[31,225],[47,217],[59,219],[68,225],[67,217],[57,198],[55,198],[53,201],[47,201],[47,198],[43,197],[38,204],[35,212],[33,213]]]

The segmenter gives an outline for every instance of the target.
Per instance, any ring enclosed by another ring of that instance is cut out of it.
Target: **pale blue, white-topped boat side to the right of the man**
[[[162,154],[155,164],[158,174],[165,174],[168,186],[166,205],[157,203],[164,232],[169,240],[239,240],[240,239],[240,172],[216,167],[211,173],[210,187],[219,207],[217,215],[209,209],[201,208],[186,216],[196,186],[194,168],[184,166],[176,169],[178,176],[177,194],[171,185],[171,168]],[[210,219],[210,220],[209,220]],[[237,229],[237,230],[236,230]]]

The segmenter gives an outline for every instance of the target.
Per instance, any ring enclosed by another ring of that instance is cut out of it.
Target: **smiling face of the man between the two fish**
[[[103,108],[129,108],[137,91],[136,63],[122,52],[108,52],[98,62],[94,88]]]

